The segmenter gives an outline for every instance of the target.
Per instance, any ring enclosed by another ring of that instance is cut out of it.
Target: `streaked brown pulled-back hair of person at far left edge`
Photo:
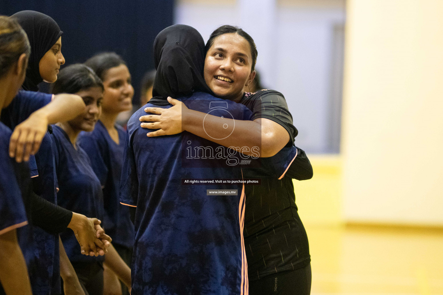
[[[27,57],[31,54],[25,31],[15,19],[0,16],[0,77],[8,72],[23,53]]]

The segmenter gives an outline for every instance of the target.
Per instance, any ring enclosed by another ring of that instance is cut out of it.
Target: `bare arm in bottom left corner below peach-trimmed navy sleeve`
[[[31,284],[16,230],[0,235],[0,282],[7,295],[32,295]]]

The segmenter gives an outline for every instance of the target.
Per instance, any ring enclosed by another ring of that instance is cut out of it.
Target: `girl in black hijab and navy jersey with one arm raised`
[[[38,84],[43,80],[54,82],[57,79],[58,68],[65,62],[60,52],[62,31],[51,17],[40,12],[17,12],[11,18],[16,19],[23,26],[31,45],[29,64],[22,88],[36,91],[38,90]],[[93,245],[94,241],[103,249],[105,249],[105,246],[95,237],[94,221],[98,223],[97,219],[88,219],[82,214],[73,213],[55,205],[57,181],[54,172],[52,143],[50,136],[47,134],[47,124],[72,119],[84,112],[85,104],[82,98],[76,95],[62,94],[53,97],[51,94],[33,91],[19,91],[8,108],[2,111],[1,120],[8,127],[14,129],[11,142],[14,141],[13,139],[17,141],[18,137],[29,139],[32,136],[34,142],[30,140],[29,146],[34,145],[34,153],[38,150],[35,157],[30,157],[30,150],[27,147],[22,149],[27,150],[27,155],[23,156],[23,160],[29,158],[33,180],[34,193],[29,198],[29,207],[33,216],[32,223],[39,227],[33,229],[35,250],[34,257],[29,263],[29,274],[31,287],[35,295],[58,294],[60,293],[58,250],[59,247],[62,247],[62,245],[59,245],[58,233],[66,230],[66,227],[73,229],[82,236],[79,241],[82,241],[81,245],[85,246],[84,250],[88,251],[91,248],[97,255],[99,253],[103,255],[104,251],[97,251],[95,245]],[[43,109],[45,109],[45,116],[42,116]],[[37,116],[36,113],[40,115]],[[32,125],[32,128],[30,128],[30,125]],[[29,136],[26,136],[26,132],[30,129],[35,130],[35,136],[31,132],[29,132]],[[48,129],[48,131],[50,130]],[[39,139],[37,140],[37,138]],[[22,155],[19,155],[19,149],[12,148],[11,150],[15,152],[16,159],[20,162]],[[96,227],[96,229],[98,228]],[[102,229],[100,230],[103,232]],[[89,244],[89,242],[92,242],[92,244]],[[91,247],[86,246],[88,244]],[[62,250],[62,253],[64,253],[64,250]],[[85,252],[85,254],[88,253]],[[65,258],[65,261],[69,263],[66,254]],[[64,266],[66,266],[66,263]],[[70,274],[75,274],[70,264],[67,267],[70,267],[68,270],[72,270]],[[62,272],[62,276],[65,273],[67,272]],[[67,276],[65,277],[67,278]],[[68,287],[74,285],[75,282],[67,284]],[[79,284],[76,285],[76,288],[81,290]]]

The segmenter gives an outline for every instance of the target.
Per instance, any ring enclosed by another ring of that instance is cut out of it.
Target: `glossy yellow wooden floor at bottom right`
[[[443,294],[443,230],[306,225],[313,295]]]

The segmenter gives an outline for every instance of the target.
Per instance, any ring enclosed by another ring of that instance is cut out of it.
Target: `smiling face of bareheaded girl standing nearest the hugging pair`
[[[106,71],[103,86],[103,112],[118,114],[132,109],[134,88],[131,85],[131,74],[124,64]]]

